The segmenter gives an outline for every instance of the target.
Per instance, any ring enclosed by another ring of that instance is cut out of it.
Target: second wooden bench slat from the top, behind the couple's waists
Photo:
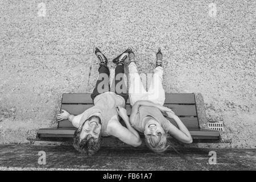
[[[83,104],[63,104],[61,109],[67,110],[69,113],[78,115],[83,113],[86,109],[89,109],[93,105],[83,105]],[[196,106],[195,105],[175,105],[175,104],[164,104],[164,106],[170,107],[176,115],[193,115],[196,116]],[[126,105],[127,114],[131,114],[131,106]]]

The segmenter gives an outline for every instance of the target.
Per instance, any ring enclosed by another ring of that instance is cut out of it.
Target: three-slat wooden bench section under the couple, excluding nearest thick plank
[[[88,93],[64,93],[61,109],[78,115],[93,106],[93,101]],[[171,108],[187,128],[199,128],[197,119],[195,95],[193,93],[166,93],[164,106]],[[127,114],[131,113],[129,99],[126,104]],[[176,126],[173,119],[169,119]],[[121,122],[122,123],[122,122]],[[124,125],[124,123],[122,123]],[[58,127],[73,127],[68,120],[60,121]]]

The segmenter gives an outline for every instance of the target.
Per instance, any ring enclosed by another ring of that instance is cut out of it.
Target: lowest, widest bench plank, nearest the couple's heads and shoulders
[[[57,135],[67,135],[69,137],[73,137],[73,134],[75,133],[75,128],[49,128],[49,129],[39,129],[38,134],[40,137],[53,137]],[[192,138],[194,139],[218,139],[220,136],[220,133],[215,130],[205,130],[205,129],[188,129],[191,133]]]

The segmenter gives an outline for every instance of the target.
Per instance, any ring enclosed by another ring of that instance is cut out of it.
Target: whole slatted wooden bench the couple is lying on
[[[67,110],[69,113],[77,115],[84,112],[93,106],[90,94],[84,93],[64,93],[61,109]],[[193,93],[167,93],[164,106],[170,107],[176,115],[178,115],[184,125],[188,128],[189,132],[194,139],[201,140],[218,140],[220,137],[219,131],[200,129],[199,118],[197,117],[195,95]],[[127,114],[131,113],[130,101],[128,99],[126,104]],[[169,119],[175,126],[176,123],[173,119]],[[121,121],[125,126],[125,123]],[[61,141],[73,138],[76,128],[68,120],[60,121],[57,127],[39,129],[37,138],[39,140],[48,141]],[[144,138],[143,134],[140,133]],[[114,137],[108,137],[114,138]],[[171,137],[170,137],[171,138]]]

